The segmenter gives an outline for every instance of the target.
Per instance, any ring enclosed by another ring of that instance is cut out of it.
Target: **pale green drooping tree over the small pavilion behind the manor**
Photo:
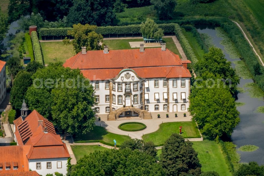
[[[147,18],[145,22],[140,24],[140,32],[147,39],[154,38],[155,40],[159,40],[164,36],[163,30],[150,18]]]

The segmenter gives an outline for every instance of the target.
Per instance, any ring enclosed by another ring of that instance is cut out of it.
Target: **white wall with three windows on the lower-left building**
[[[30,159],[29,169],[35,170],[40,175],[53,174],[54,172],[67,173],[68,158]]]

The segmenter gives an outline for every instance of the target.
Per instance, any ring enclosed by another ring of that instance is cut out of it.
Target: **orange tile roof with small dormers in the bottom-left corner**
[[[0,170],[0,175],[29,170],[29,163],[26,155],[30,150],[30,146],[3,146],[0,148],[0,165],[3,167],[3,169]],[[14,170],[13,166],[16,165],[18,168]],[[6,170],[6,166],[10,166],[10,169]]]

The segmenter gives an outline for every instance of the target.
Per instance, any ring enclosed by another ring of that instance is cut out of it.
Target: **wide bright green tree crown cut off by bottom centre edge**
[[[72,166],[69,175],[164,175],[154,157],[131,149],[95,151]]]

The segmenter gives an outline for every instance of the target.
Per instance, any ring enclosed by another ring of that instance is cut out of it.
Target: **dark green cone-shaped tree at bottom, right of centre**
[[[165,141],[160,158],[166,175],[201,174],[201,164],[192,143],[176,133]]]

